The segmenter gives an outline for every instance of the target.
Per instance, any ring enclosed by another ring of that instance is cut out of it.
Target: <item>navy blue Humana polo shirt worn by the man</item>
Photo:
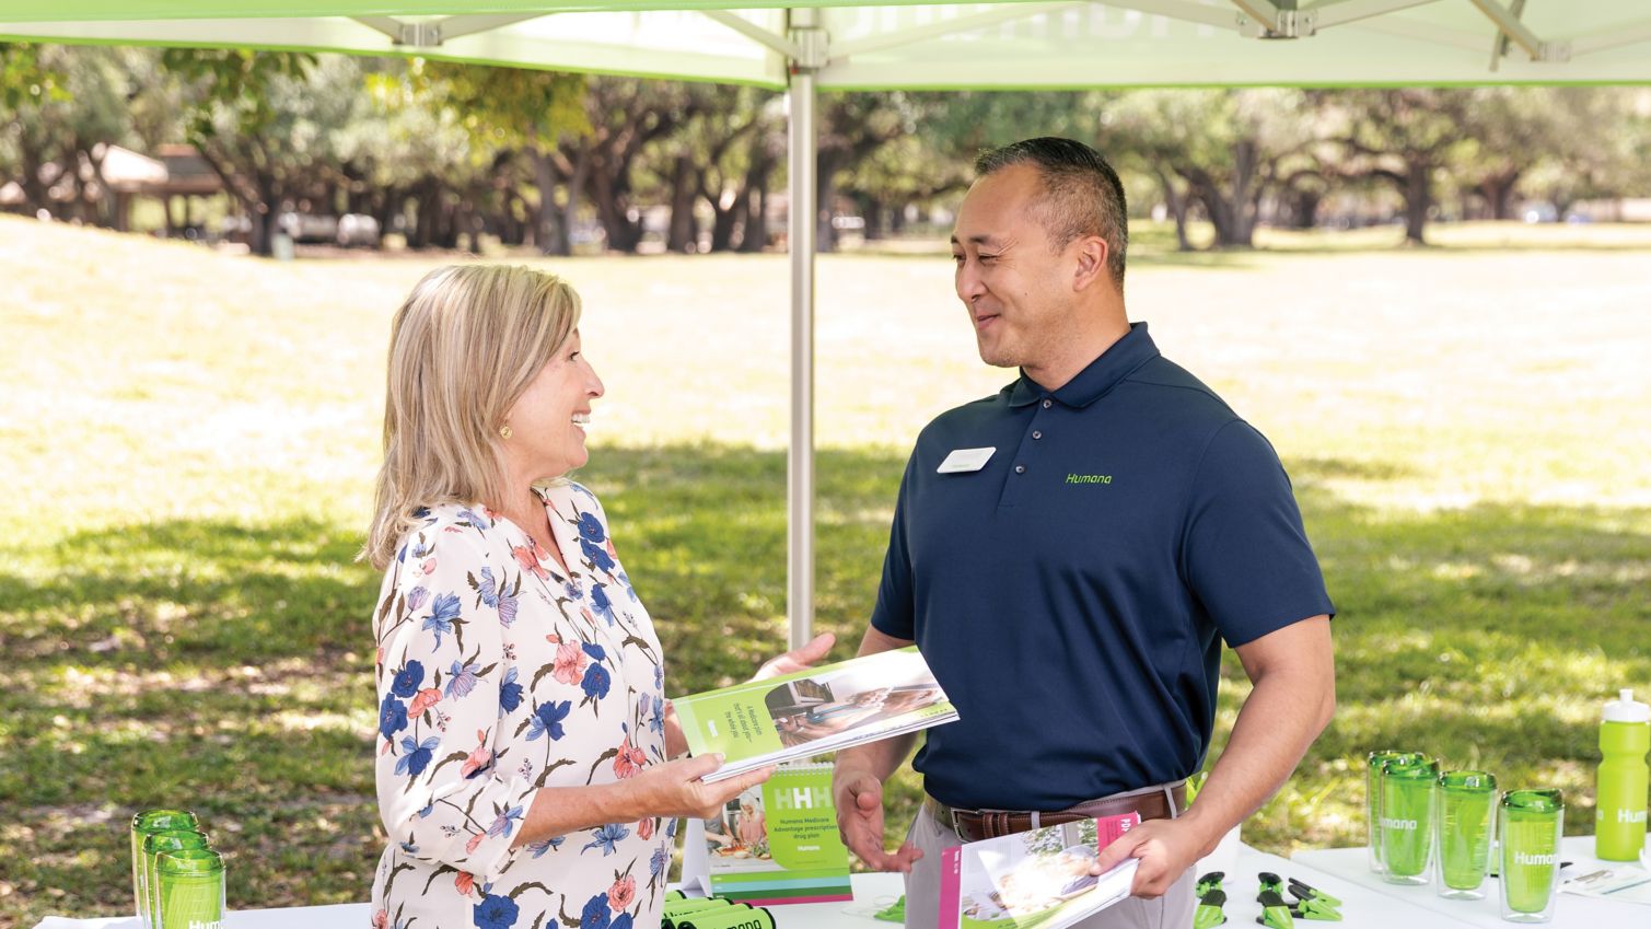
[[[1055,810],[1195,772],[1222,640],[1331,612],[1278,454],[1134,323],[1060,389],[1022,373],[923,429],[872,625],[961,714],[926,731],[925,789]]]

